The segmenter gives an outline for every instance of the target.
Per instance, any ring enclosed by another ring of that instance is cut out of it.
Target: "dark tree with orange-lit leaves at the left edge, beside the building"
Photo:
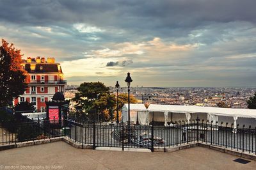
[[[26,90],[27,73],[22,70],[20,50],[2,39],[0,46],[0,106],[6,106],[13,98]]]

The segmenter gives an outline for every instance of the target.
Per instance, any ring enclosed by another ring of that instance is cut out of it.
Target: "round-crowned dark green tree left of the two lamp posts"
[[[83,82],[77,90],[78,93],[73,98],[77,102],[76,107],[84,114],[88,113],[90,120],[93,120],[95,111],[113,111],[115,97],[110,94],[109,88],[102,82]],[[102,114],[100,115],[101,118],[105,118]]]

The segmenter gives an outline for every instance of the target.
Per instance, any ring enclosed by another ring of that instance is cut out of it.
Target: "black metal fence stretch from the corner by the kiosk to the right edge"
[[[176,121],[163,125],[119,123],[77,123],[65,120],[65,135],[83,145],[124,148],[171,148],[203,142],[237,151],[256,154],[256,127],[209,121]]]

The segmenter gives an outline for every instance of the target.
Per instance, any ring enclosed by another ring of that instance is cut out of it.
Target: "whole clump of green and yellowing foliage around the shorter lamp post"
[[[77,119],[83,118],[84,120],[104,120],[109,121],[111,117],[116,119],[116,96],[110,94],[109,88],[102,82],[84,82],[82,83],[76,93],[76,97],[73,98],[77,102],[76,114],[70,115],[76,116]],[[124,104],[128,103],[128,94],[118,94],[118,111]],[[130,95],[130,103],[137,103],[136,98]],[[119,113],[119,118],[121,113]]]

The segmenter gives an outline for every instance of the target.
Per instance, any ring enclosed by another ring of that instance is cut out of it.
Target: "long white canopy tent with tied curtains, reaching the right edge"
[[[205,118],[211,121],[222,121],[218,120],[218,118],[224,118],[223,120],[227,120],[227,117],[232,118],[232,122],[234,123],[234,127],[237,125],[238,118],[250,118],[249,120],[245,120],[244,123],[256,123],[256,110],[253,109],[232,109],[232,108],[220,108],[220,107],[198,107],[198,106],[191,106],[191,105],[156,105],[150,104],[148,107],[148,112],[154,112],[154,120],[155,116],[156,119],[164,118],[164,125],[167,125],[168,114],[171,113],[178,113],[183,114],[186,116],[186,120],[191,120],[191,116],[193,114],[205,114]],[[148,114],[148,123],[152,121],[152,114]],[[206,117],[207,116],[207,117]],[[195,117],[195,116],[194,116]],[[200,116],[199,116],[200,117]],[[206,120],[205,119],[205,120]],[[256,125],[256,124],[255,124]]]

